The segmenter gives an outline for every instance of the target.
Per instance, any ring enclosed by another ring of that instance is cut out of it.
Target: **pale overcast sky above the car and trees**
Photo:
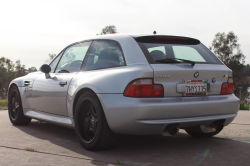
[[[95,36],[119,33],[186,36],[211,46],[233,31],[250,64],[249,0],[0,0],[0,57],[39,68],[48,54]]]

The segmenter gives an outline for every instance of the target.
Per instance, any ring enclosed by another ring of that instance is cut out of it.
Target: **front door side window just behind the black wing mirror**
[[[90,44],[91,42],[85,42],[67,48],[56,68],[56,73],[79,72]]]

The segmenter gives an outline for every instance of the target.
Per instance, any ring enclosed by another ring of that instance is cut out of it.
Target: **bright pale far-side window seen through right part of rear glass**
[[[174,56],[195,62],[206,62],[205,59],[194,49],[186,46],[173,46]]]

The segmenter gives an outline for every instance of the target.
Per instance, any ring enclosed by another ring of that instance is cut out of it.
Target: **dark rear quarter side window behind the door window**
[[[124,66],[119,45],[114,41],[94,41],[84,64],[84,70]]]

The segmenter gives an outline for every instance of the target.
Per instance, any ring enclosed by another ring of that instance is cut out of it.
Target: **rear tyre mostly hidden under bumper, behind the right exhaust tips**
[[[196,127],[192,127],[192,128],[186,128],[186,132],[195,138],[209,138],[212,137],[216,134],[219,134],[221,132],[221,130],[223,129],[223,126],[217,128],[214,132],[209,132],[209,133],[204,133],[200,126],[196,126]]]

